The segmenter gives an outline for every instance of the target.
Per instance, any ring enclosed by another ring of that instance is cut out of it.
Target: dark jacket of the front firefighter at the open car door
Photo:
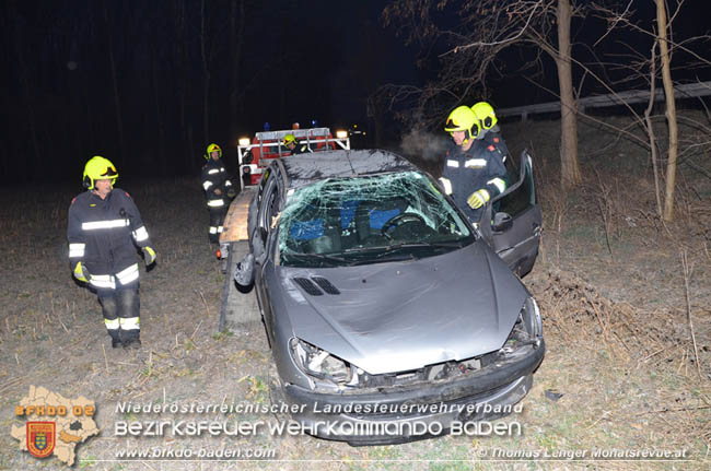
[[[475,140],[468,151],[452,146],[444,160],[442,177],[452,185],[452,199],[473,222],[478,222],[481,209],[467,203],[469,196],[485,189],[493,198],[505,189],[506,169],[501,150],[486,140]]]

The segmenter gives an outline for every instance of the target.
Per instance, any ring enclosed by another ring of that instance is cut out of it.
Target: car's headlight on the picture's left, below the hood
[[[325,350],[296,338],[289,342],[289,350],[299,369],[312,379],[339,388],[358,385],[358,368]]]

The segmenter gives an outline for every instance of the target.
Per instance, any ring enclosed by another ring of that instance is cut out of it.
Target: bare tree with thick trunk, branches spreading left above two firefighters
[[[572,83],[571,20],[583,15],[587,2],[571,0],[398,0],[384,12],[386,22],[399,22],[408,40],[446,40],[452,47],[441,56],[442,73],[436,83],[418,92],[413,116],[428,119],[432,108],[442,119],[442,104],[450,108],[471,101],[475,94],[487,95],[490,73],[505,73],[500,55],[510,47],[532,47],[533,59],[518,68],[534,70],[541,78],[543,57],[556,63],[561,101],[561,185],[570,188],[581,181],[578,160],[576,106]],[[458,11],[455,31],[445,30],[434,19],[438,13]],[[557,27],[556,27],[557,25]],[[536,78],[536,76],[534,76]],[[432,106],[439,103],[440,106]]]

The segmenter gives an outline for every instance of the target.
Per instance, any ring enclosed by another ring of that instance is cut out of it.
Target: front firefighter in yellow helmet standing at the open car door
[[[455,145],[447,151],[440,181],[469,221],[478,223],[482,207],[506,187],[503,155],[499,148],[477,139],[479,120],[468,106],[455,108],[444,130]]]

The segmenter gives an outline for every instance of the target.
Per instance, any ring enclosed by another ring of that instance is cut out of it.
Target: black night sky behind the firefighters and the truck
[[[438,72],[438,51],[418,68],[422,50],[383,25],[386,2],[376,0],[1,3],[3,182],[79,184],[96,154],[123,175],[194,175],[208,143],[233,156],[237,139],[265,121],[271,129],[316,119],[372,131],[369,95]],[[640,17],[650,13],[653,7]],[[686,13],[684,34],[704,33],[706,17]],[[503,60],[515,64],[522,56]],[[544,74],[557,87],[555,71]],[[492,79],[494,105],[551,99],[514,76]],[[386,116],[377,144],[397,143],[403,131]]]

